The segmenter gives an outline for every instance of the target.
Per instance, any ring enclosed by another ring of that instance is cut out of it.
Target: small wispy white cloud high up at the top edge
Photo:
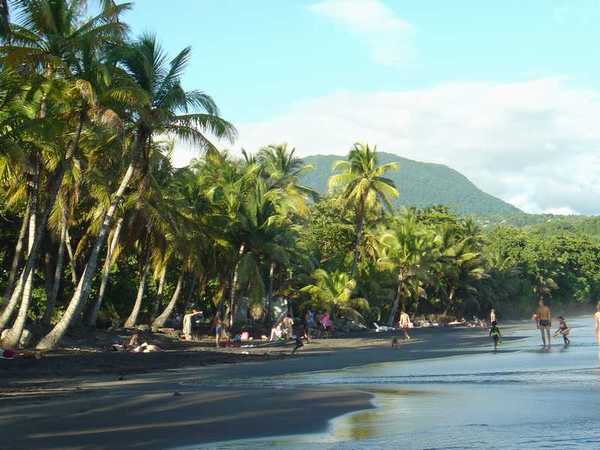
[[[320,0],[309,10],[363,39],[377,64],[397,66],[414,57],[414,28],[380,0]]]

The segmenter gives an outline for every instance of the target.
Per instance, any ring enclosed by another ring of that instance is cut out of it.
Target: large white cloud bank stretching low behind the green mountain
[[[529,212],[600,213],[600,92],[558,78],[336,92],[239,124],[236,147],[288,142],[300,155],[353,142],[447,164]]]

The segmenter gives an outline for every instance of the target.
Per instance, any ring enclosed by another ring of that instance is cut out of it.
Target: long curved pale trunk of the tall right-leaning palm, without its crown
[[[79,316],[79,312],[85,303],[90,289],[92,287],[92,280],[94,277],[94,273],[96,271],[96,267],[98,266],[98,255],[100,253],[100,249],[104,246],[106,242],[106,238],[108,237],[108,231],[110,225],[112,223],[112,219],[115,215],[115,211],[117,206],[121,202],[123,195],[125,194],[125,190],[129,186],[131,179],[133,178],[133,173],[135,171],[135,162],[132,161],[127,167],[127,171],[125,175],[121,179],[121,183],[119,184],[119,188],[117,192],[115,192],[111,204],[106,211],[104,216],[104,220],[102,221],[102,226],[100,227],[100,231],[98,232],[98,237],[96,238],[96,243],[92,248],[92,252],[90,253],[90,257],[88,262],[83,270],[83,274],[79,278],[79,283],[77,284],[77,288],[73,293],[73,297],[67,306],[65,313],[63,314],[61,320],[56,324],[56,326],[48,333],[37,345],[38,350],[50,350],[56,347],[56,345],[60,342],[64,334],[67,332],[69,326],[73,323],[76,317]]]

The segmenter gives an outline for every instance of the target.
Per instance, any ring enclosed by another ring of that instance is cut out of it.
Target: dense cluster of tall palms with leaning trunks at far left
[[[166,245],[160,228],[169,219],[156,222],[164,200],[153,191],[164,181],[161,171],[169,170],[161,140],[177,137],[212,150],[207,134],[235,136],[208,95],[183,89],[190,49],[169,59],[154,36],[132,39],[121,20],[129,8],[103,0],[89,15],[84,0],[3,4],[1,177],[7,203],[23,210],[0,316],[0,329],[9,329],[4,345],[21,338],[35,272],[44,250],[53,250],[49,240],[58,237],[56,276],[46,277],[53,283],[47,321],[65,249],[75,287],[40,349],[55,347],[81,317],[109,238],[108,260],[116,257],[125,211],[133,216],[130,226],[143,229],[132,245],[142,253],[145,275],[154,248]],[[86,232],[73,248],[70,231],[79,226]],[[128,323],[136,314],[134,308]]]

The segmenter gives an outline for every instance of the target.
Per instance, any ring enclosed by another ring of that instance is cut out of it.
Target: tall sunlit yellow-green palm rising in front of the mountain
[[[398,196],[394,182],[383,176],[397,169],[397,163],[379,165],[376,148],[360,143],[354,144],[347,160],[337,161],[333,166],[334,173],[337,173],[329,178],[329,189],[340,188],[342,197],[355,213],[356,238],[351,276],[356,272],[367,213],[380,205],[391,209],[390,199]]]

